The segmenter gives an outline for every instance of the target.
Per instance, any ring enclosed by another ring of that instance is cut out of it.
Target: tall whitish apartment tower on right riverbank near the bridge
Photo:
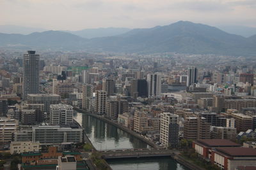
[[[173,113],[161,113],[160,143],[164,146],[178,146],[179,143],[179,116]]]

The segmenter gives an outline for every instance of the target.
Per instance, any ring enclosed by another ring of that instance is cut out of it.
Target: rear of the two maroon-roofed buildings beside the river
[[[199,139],[192,143],[195,152],[206,159],[211,159],[212,148],[239,147],[240,145],[228,139]]]

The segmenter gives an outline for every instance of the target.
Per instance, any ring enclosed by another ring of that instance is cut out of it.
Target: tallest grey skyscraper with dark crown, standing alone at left
[[[23,55],[23,84],[22,99],[27,98],[27,94],[39,93],[39,55],[35,51],[28,51]]]

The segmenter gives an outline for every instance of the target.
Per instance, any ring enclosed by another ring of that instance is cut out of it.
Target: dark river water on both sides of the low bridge
[[[134,138],[117,127],[102,122],[94,117],[77,113],[76,121],[82,125],[86,135],[97,150],[115,150],[122,148],[147,148],[147,143]],[[175,160],[168,157],[140,158],[140,159],[113,159],[107,160],[113,170],[184,170]]]

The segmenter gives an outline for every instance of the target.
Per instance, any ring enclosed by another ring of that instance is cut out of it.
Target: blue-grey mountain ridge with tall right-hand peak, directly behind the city
[[[170,25],[132,29],[123,34],[91,39],[63,31],[34,32],[28,35],[2,33],[0,46],[131,53],[256,55],[256,35],[244,38],[209,25],[179,21]]]

